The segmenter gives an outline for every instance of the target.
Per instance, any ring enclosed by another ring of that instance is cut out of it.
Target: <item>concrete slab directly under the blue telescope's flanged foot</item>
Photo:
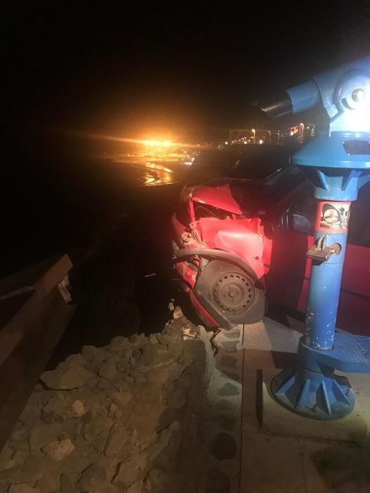
[[[370,413],[362,409],[361,399],[357,400],[354,411],[345,418],[334,421],[304,418],[280,406],[273,399],[270,384],[272,378],[280,371],[276,368],[262,371],[260,383],[262,388],[260,389],[260,402],[257,402],[257,408],[261,411],[261,427],[264,432],[278,436],[340,440],[343,442],[362,442],[366,439],[370,428]],[[357,378],[357,383],[355,383],[356,377],[360,377]],[[350,375],[350,382],[355,394],[369,394],[369,376],[367,376],[366,381],[364,375]]]

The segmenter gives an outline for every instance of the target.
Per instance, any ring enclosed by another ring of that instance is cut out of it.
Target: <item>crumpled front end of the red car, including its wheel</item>
[[[180,196],[172,217],[175,269],[210,327],[230,329],[264,315],[261,204],[266,190],[254,180],[213,180]]]

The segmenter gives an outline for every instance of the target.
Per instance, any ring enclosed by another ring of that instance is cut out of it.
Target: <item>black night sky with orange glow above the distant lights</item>
[[[370,1],[5,1],[8,127],[144,137],[247,125],[250,101],[370,53]]]

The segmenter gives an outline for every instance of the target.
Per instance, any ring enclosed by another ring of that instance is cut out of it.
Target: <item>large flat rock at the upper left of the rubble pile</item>
[[[66,363],[60,363],[56,370],[45,371],[41,375],[41,380],[49,389],[79,389],[85,385],[91,384],[96,375],[82,366],[68,366]]]

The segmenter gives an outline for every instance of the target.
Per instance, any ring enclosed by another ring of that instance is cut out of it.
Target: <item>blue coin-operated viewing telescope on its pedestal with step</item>
[[[334,370],[370,373],[370,337],[335,332],[350,204],[370,180],[370,56],[286,93],[277,103],[259,106],[276,117],[321,104],[328,121],[321,135],[292,156],[314,185],[318,208],[314,244],[307,251],[311,280],[297,363],[277,375],[271,389],[292,411],[332,420],[354,407],[348,380]]]

